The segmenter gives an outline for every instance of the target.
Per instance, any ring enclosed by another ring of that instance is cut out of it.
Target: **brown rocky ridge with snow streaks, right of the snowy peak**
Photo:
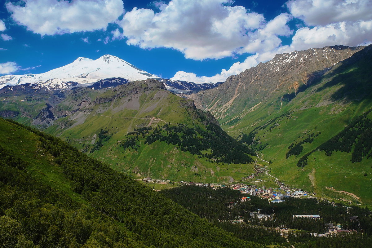
[[[217,119],[227,117],[227,112],[229,116],[235,116],[275,94],[279,98],[297,94],[330,67],[363,48],[327,46],[277,54],[269,62],[230,76],[217,88],[202,90],[187,98],[193,99],[196,107],[209,110]]]

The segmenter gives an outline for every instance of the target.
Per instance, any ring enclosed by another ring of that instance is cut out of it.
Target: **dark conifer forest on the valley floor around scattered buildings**
[[[217,226],[234,233],[237,237],[259,241],[265,240],[266,244],[282,244],[285,241],[277,231],[270,228],[286,227],[299,231],[291,233],[290,240],[296,247],[337,247],[337,243],[342,241],[343,247],[351,247],[352,244],[363,239],[361,246],[369,247],[368,242],[372,240],[371,211],[368,208],[362,209],[357,206],[346,208],[341,204],[331,204],[327,201],[316,199],[296,199],[287,198],[285,202],[269,203],[267,199],[256,196],[249,196],[250,201],[241,202],[238,190],[228,188],[212,189],[201,186],[179,186],[173,189],[162,190],[165,196],[183,205],[186,209],[206,218]],[[228,206],[232,206],[229,208]],[[213,209],[213,211],[211,211]],[[259,210],[258,210],[259,209]],[[271,218],[259,219],[257,216],[251,217],[249,212],[259,211],[262,214],[270,215]],[[309,218],[293,218],[293,215],[320,215],[320,220]],[[350,222],[349,216],[359,216],[359,222]],[[244,224],[233,224],[229,220],[243,219]],[[339,223],[344,229],[357,230],[356,235],[351,236],[331,236],[331,237],[312,237],[308,233],[326,232],[324,223]],[[361,233],[364,233],[361,235]],[[304,237],[304,238],[302,238]],[[321,241],[319,241],[321,239]]]

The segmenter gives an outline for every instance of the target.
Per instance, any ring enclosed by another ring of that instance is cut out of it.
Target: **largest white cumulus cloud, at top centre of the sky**
[[[286,25],[291,19],[288,14],[267,23],[263,15],[230,3],[173,0],[159,3],[158,13],[135,7],[117,23],[129,45],[173,48],[198,60],[267,52],[280,46],[278,35],[292,33]]]

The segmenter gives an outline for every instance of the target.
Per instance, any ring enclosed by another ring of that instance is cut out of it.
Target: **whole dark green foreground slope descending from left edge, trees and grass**
[[[66,142],[0,119],[6,247],[260,247]]]

